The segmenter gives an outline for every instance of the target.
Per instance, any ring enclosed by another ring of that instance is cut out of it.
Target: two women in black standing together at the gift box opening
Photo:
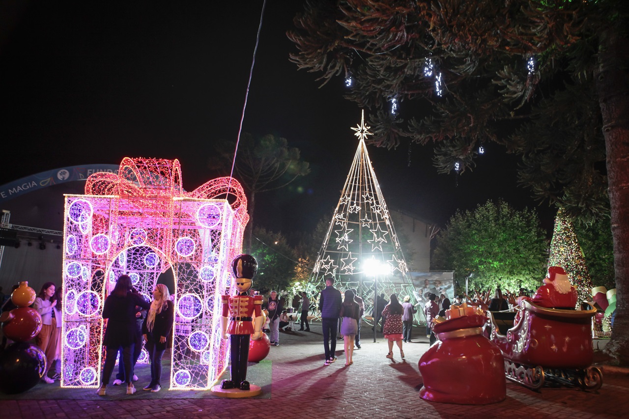
[[[142,327],[138,330],[138,321],[142,318],[142,311],[146,311]],[[103,344],[106,348],[105,364],[101,386],[97,391],[99,396],[106,394],[106,388],[111,379],[116,356],[121,352],[126,394],[135,393],[133,374],[135,362],[142,349],[142,338],[146,341],[146,349],[151,366],[151,381],[143,389],[153,393],[160,391],[162,377],[162,357],[167,346],[167,337],[174,322],[174,304],[170,301],[170,293],[164,284],[157,284],[153,289],[153,301],[148,303],[131,286],[131,278],[121,275],[116,281],[111,294],[105,299],[103,318],[108,319]],[[116,381],[121,381],[118,379]],[[114,381],[114,384],[119,384]],[[120,383],[121,384],[121,383]]]

